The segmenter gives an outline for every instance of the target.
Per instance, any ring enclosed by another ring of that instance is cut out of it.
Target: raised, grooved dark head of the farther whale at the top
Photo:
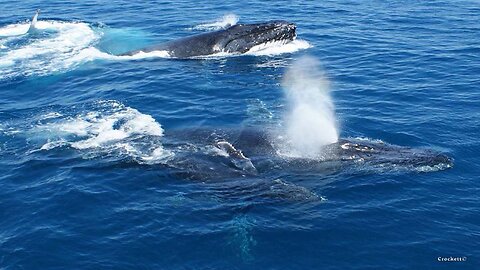
[[[296,25],[286,21],[256,24],[237,24],[225,29],[221,50],[228,53],[245,53],[258,45],[285,44],[296,38]]]

